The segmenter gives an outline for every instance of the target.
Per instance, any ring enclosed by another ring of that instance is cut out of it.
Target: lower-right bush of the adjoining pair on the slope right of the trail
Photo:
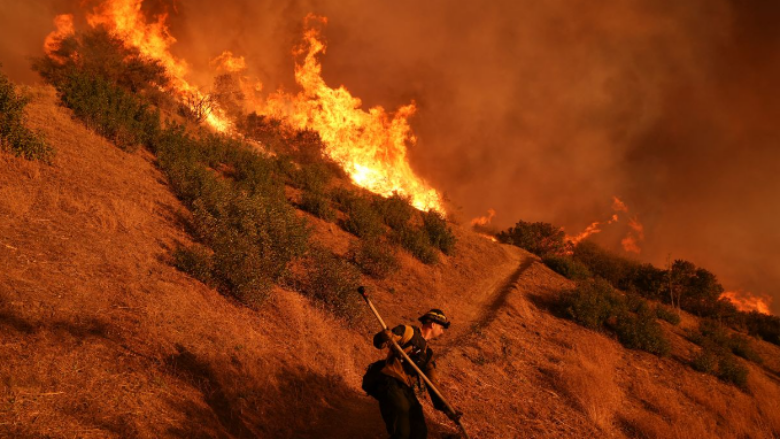
[[[647,305],[640,307],[635,315],[619,316],[615,332],[623,346],[629,349],[641,349],[663,357],[669,355],[672,348]]]

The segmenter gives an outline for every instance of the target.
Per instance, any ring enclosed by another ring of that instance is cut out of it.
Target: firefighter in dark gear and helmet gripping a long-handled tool
[[[432,309],[418,319],[422,328],[412,325],[398,325],[392,331],[381,331],[374,336],[377,349],[386,348],[390,338],[415,362],[417,367],[436,385],[436,363],[428,341],[433,340],[449,328],[450,322],[439,309]],[[387,426],[390,439],[425,439],[428,428],[425,425],[422,405],[417,394],[422,394],[427,385],[414,368],[405,364],[403,358],[392,349],[381,369],[380,379],[371,394],[379,400],[379,410]],[[427,389],[431,402],[437,410],[447,412],[446,406],[431,389]],[[460,413],[447,413],[453,421],[460,419]]]

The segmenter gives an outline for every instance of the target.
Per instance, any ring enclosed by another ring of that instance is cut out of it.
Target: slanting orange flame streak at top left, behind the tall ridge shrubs
[[[187,63],[170,52],[176,38],[168,30],[168,15],[160,14],[156,21],[149,22],[141,12],[142,3],[143,0],[107,0],[96,6],[91,14],[87,14],[87,23],[92,27],[104,26],[126,46],[136,48],[142,55],[160,62],[171,78],[174,91],[182,100],[187,96],[194,97],[194,101],[203,100],[205,95],[185,79],[189,72]],[[220,132],[226,132],[231,127],[230,121],[219,109],[209,111],[205,121]]]

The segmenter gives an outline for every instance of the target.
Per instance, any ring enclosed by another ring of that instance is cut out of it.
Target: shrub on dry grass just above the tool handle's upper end
[[[303,291],[322,302],[330,311],[355,321],[365,308],[360,295],[360,272],[324,249],[313,249],[307,258]]]

